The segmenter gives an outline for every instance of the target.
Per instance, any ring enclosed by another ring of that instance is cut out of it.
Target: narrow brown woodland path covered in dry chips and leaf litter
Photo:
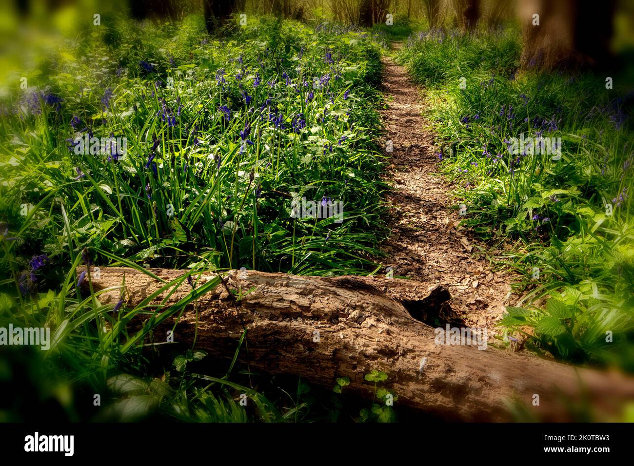
[[[389,56],[382,61],[387,109],[381,114],[386,142],[391,140],[393,146],[385,178],[394,187],[387,196],[392,234],[382,245],[387,253],[383,263],[394,269],[394,276],[446,285],[451,301],[441,309],[441,321],[494,330],[493,323],[511,299],[509,278],[477,257],[476,241],[458,227],[452,187],[437,174],[437,150],[422,117],[420,89],[404,67]],[[433,320],[430,316],[428,323],[434,325]]]

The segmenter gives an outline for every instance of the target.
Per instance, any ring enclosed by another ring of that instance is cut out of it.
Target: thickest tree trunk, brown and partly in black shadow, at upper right
[[[522,0],[523,69],[602,67],[609,62],[614,0]],[[539,15],[539,25],[534,24]]]

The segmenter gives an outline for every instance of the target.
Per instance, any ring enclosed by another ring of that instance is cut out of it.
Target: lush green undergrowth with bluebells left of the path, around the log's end
[[[25,383],[46,377],[37,396],[70,420],[332,416],[314,398],[301,401],[310,387],[297,379],[287,396],[265,375],[195,348],[159,351],[157,325],[217,280],[160,309],[148,309],[149,298],[128,307],[122,284],[115,309],[100,304],[100,292],[81,293],[77,268],[183,269],[166,292],[201,271],[377,269],[387,233],[375,143],[380,42],[269,18],[222,39],[207,36],[197,15],[178,25],[102,21],[116,27],[60,37],[29,72],[29,88],[12,81],[3,102],[0,318],[55,334]],[[127,138],[126,154],[75,152],[75,138],[89,133]],[[292,201],[302,197],[342,201],[343,215],[294,218]],[[139,319],[143,328],[131,333]],[[248,351],[243,343],[236,354]],[[20,356],[11,357],[4,373],[19,379]],[[199,375],[210,366],[213,375]],[[251,408],[238,405],[240,394]],[[0,409],[6,420],[25,416]]]

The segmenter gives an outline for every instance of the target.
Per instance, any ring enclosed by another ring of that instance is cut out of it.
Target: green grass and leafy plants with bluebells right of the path
[[[516,30],[431,31],[411,36],[399,60],[427,87],[462,223],[519,274],[521,301],[501,324],[538,353],[634,370],[630,89],[590,73],[521,73],[520,53]],[[521,133],[561,138],[561,159],[511,153]]]

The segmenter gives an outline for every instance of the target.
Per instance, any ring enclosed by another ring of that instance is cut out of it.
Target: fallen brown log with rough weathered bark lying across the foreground
[[[151,271],[168,281],[183,275],[172,269]],[[94,271],[91,276],[94,290],[117,288],[99,295],[102,304],[119,301],[124,276],[127,306],[138,304],[160,284],[128,268],[101,268],[100,278]],[[200,275],[197,287],[214,276]],[[379,370],[388,376],[382,386],[398,395],[395,406],[445,420],[507,420],[512,399],[541,420],[566,420],[564,401],[583,398],[595,410],[615,413],[624,401],[634,399],[634,380],[618,373],[508,353],[491,347],[490,341],[485,350],[436,344],[434,328],[411,314],[449,298],[448,290],[437,285],[397,278],[257,271],[248,271],[245,278],[240,271],[231,271],[224,283],[197,300],[197,347],[218,358],[231,358],[246,327],[250,367],[264,372],[301,375],[326,387],[333,387],[336,377],[349,377],[351,385],[344,392],[372,398],[373,384],[364,376]],[[228,292],[252,287],[238,302]],[[190,291],[184,282],[166,304]],[[160,295],[153,304],[166,296]],[[174,340],[191,344],[195,323],[190,306],[176,326]],[[533,406],[534,394],[539,406]]]

